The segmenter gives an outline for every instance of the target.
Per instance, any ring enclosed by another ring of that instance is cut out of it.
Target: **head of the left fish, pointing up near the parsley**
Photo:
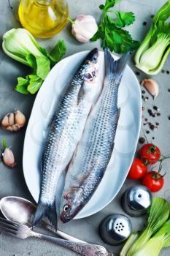
[[[80,75],[86,83],[94,83],[98,77],[99,50],[94,48],[82,63]]]

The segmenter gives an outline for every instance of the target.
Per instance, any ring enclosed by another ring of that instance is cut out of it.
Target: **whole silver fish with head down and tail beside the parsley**
[[[91,110],[80,143],[69,165],[61,197],[61,221],[69,222],[90,200],[104,176],[112,156],[119,118],[117,91],[128,54],[118,61],[104,51],[104,87]]]

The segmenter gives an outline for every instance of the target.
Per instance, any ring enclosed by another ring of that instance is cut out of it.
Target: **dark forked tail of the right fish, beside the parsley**
[[[116,78],[121,79],[123,75],[123,71],[125,69],[125,65],[128,61],[129,54],[130,52],[124,53],[123,56],[120,57],[120,59],[115,60],[109,48],[105,48],[104,59],[105,59],[106,76],[112,75],[112,76],[115,76]]]

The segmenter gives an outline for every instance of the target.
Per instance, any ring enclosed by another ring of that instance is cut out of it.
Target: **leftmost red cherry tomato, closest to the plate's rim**
[[[146,173],[147,166],[143,164],[141,159],[135,158],[129,170],[128,178],[139,179],[142,178]]]

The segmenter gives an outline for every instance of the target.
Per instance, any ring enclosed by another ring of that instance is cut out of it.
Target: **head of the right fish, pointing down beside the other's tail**
[[[82,209],[83,189],[71,187],[63,193],[60,219],[63,223],[69,222]]]

